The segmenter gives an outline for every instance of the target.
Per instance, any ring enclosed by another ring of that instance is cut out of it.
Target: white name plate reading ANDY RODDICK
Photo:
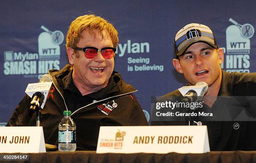
[[[206,153],[207,126],[101,126],[96,153]]]

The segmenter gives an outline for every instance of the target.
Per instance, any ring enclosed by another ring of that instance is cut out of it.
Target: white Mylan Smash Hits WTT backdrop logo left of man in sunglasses
[[[38,36],[38,53],[12,50],[4,52],[5,75],[24,75],[40,79],[41,74],[48,73],[48,69],[59,69],[59,45],[63,42],[64,35],[59,30],[52,32],[43,25],[41,29],[44,32]]]

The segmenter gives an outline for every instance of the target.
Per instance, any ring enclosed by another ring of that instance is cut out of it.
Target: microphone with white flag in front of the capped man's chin
[[[187,91],[188,90],[188,91]],[[179,89],[183,98],[181,102],[201,102],[208,90],[208,84],[204,81],[197,82],[195,86],[183,86]],[[184,91],[187,93],[184,94]],[[198,96],[199,95],[199,96]]]

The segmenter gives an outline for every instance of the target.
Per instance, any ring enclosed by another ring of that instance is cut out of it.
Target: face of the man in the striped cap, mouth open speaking
[[[173,65],[183,73],[190,85],[205,81],[208,86],[220,85],[223,50],[214,49],[204,42],[192,44],[182,56],[173,59]]]

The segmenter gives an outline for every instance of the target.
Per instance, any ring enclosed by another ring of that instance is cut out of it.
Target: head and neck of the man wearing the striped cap
[[[206,25],[191,23],[183,27],[175,36],[174,51],[177,59],[172,63],[179,73],[183,73],[189,85],[205,81],[208,96],[217,96],[220,90],[223,49],[218,48],[212,30]],[[212,106],[215,100],[205,101]]]

